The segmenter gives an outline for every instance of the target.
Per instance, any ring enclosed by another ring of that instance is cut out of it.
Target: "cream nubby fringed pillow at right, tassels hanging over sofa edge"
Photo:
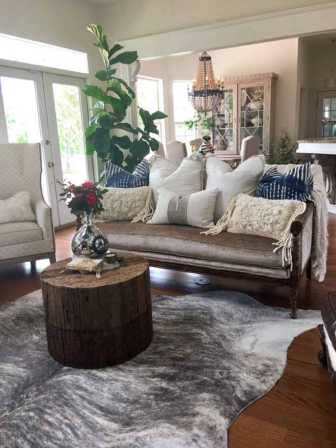
[[[251,197],[240,193],[233,198],[227,211],[219,219],[216,227],[206,235],[217,235],[223,230],[232,233],[259,235],[277,240],[273,243],[282,248],[283,266],[288,262],[292,268],[292,222],[306,209],[304,202],[291,199],[272,200]]]

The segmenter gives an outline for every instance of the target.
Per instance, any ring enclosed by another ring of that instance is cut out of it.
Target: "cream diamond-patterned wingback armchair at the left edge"
[[[0,144],[0,200],[15,193],[30,193],[35,221],[0,223],[0,266],[8,263],[55,259],[51,209],[41,190],[41,146],[39,143]]]

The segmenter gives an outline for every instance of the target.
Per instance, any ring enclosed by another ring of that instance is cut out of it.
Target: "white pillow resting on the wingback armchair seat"
[[[28,191],[20,191],[9,199],[0,200],[0,224],[20,221],[36,221]]]

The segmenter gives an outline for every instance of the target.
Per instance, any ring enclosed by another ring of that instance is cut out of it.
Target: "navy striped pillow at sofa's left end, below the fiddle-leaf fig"
[[[143,187],[148,186],[148,178],[147,175],[139,175],[140,171],[144,170],[144,164],[142,164],[144,160],[139,163],[138,166],[141,165],[139,171],[137,169],[134,173],[131,174],[127,171],[123,170],[120,166],[115,165],[111,162],[105,162],[105,176],[106,176],[106,184],[105,187],[110,188],[135,188],[135,187]]]

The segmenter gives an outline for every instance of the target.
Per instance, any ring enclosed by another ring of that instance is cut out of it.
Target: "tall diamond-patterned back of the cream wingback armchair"
[[[32,204],[42,199],[39,143],[2,143],[0,160],[0,199],[19,191],[28,191]]]

